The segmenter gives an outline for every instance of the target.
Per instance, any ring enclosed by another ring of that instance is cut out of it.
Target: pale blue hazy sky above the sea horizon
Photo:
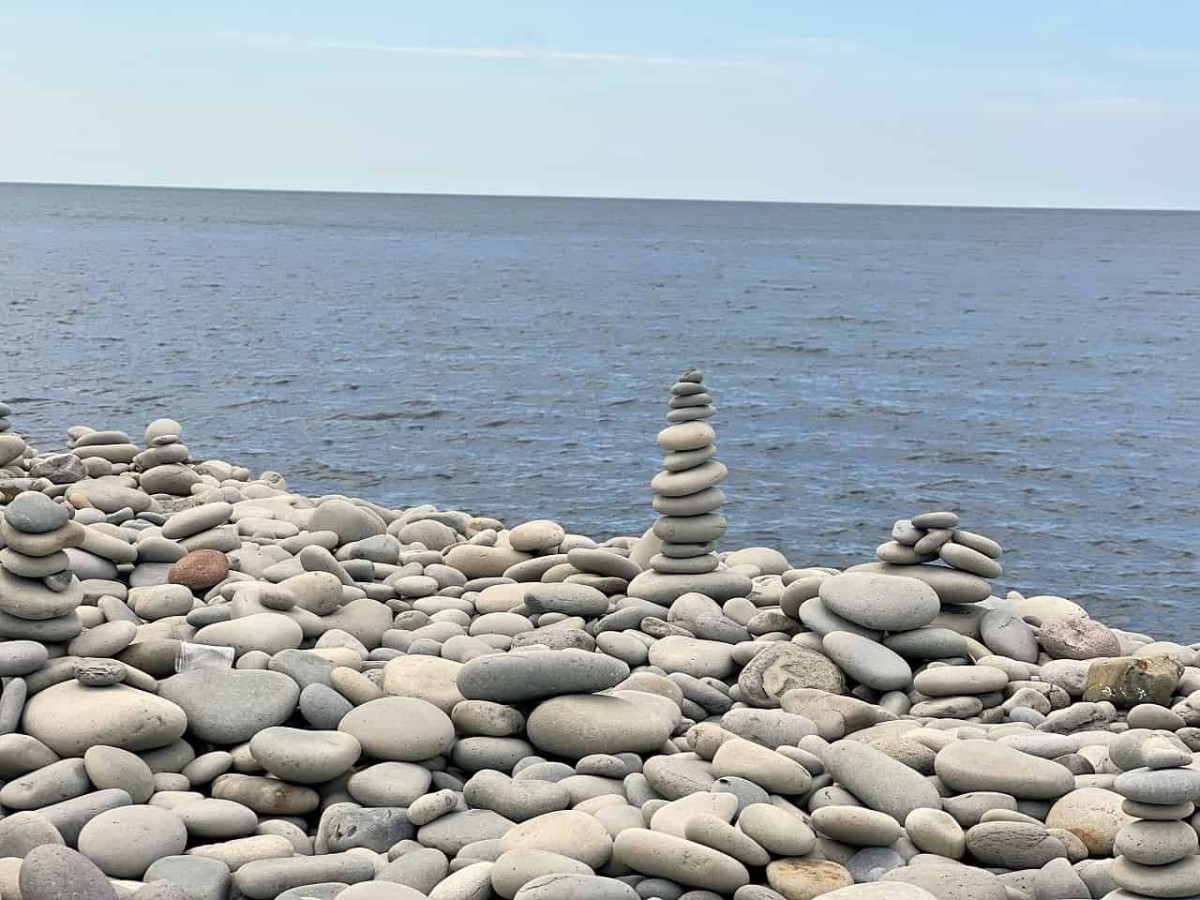
[[[1200,209],[1192,0],[2,0],[0,181]]]

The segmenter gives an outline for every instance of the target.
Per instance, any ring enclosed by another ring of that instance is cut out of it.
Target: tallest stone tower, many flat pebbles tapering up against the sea
[[[728,469],[713,458],[716,433],[704,421],[716,412],[712,400],[703,372],[695,368],[671,388],[670,425],[658,437],[667,455],[650,481],[654,509],[661,514],[652,529],[659,552],[649,559],[649,570],[630,583],[631,596],[670,602],[696,592],[727,600],[749,589],[743,576],[718,572],[716,541],[726,528],[719,512],[725,492],[718,485]]]

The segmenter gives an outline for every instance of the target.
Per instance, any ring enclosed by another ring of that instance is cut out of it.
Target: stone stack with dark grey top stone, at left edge
[[[71,521],[66,506],[37,491],[18,494],[4,509],[0,636],[62,642],[79,634],[83,588],[66,548],[83,539],[83,526]]]

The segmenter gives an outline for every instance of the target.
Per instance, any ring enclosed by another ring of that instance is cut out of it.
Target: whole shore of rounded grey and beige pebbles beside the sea
[[[170,420],[22,440],[0,898],[1200,898],[1195,646],[1001,595],[949,512],[845,571],[718,553],[690,478],[593,540],[304,497]]]

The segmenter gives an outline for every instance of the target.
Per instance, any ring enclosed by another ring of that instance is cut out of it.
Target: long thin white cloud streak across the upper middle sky
[[[430,44],[364,43],[359,41],[329,41],[325,38],[294,38],[227,35],[238,43],[251,47],[283,47],[344,53],[380,53],[407,56],[449,56],[456,59],[500,59],[553,62],[592,62],[623,66],[676,68],[766,68],[762,64],[744,60],[710,59],[704,56],[656,56],[634,53],[595,50],[557,50],[542,47],[439,47]]]

